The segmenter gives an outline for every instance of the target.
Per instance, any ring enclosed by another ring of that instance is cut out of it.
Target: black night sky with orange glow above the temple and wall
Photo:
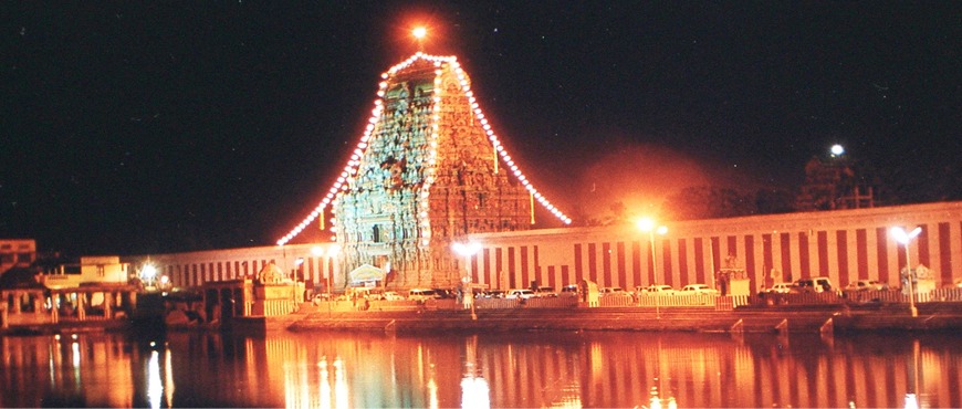
[[[344,166],[416,21],[569,214],[796,189],[835,143],[901,201],[962,199],[962,3],[638,3],[2,2],[0,237],[274,243]]]

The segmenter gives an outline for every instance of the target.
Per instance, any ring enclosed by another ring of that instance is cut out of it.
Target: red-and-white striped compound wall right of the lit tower
[[[582,280],[634,290],[712,285],[714,272],[744,269],[754,291],[777,282],[827,276],[836,286],[875,279],[899,287],[905,247],[892,227],[922,232],[909,243],[912,268],[924,265],[937,286],[962,279],[962,202],[941,202],[667,222],[655,235],[634,223],[470,234],[480,251],[462,258],[473,283],[494,289],[558,289]],[[652,260],[655,261],[652,263]]]

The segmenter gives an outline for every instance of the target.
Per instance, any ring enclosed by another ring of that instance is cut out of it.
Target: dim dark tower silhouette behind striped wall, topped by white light
[[[805,165],[805,182],[795,201],[798,211],[875,207],[875,188],[859,171],[841,145],[826,157],[815,156]]]

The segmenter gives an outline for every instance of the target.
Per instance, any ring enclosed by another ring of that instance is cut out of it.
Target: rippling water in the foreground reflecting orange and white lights
[[[962,337],[0,338],[2,407],[960,407]],[[11,392],[15,391],[15,392]]]

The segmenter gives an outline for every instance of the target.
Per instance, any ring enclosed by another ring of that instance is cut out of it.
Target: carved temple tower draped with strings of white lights
[[[377,95],[341,178],[279,244],[332,204],[342,273],[369,264],[391,287],[451,287],[464,274],[451,245],[467,234],[529,229],[535,201],[571,222],[501,146],[456,57],[417,53]]]

